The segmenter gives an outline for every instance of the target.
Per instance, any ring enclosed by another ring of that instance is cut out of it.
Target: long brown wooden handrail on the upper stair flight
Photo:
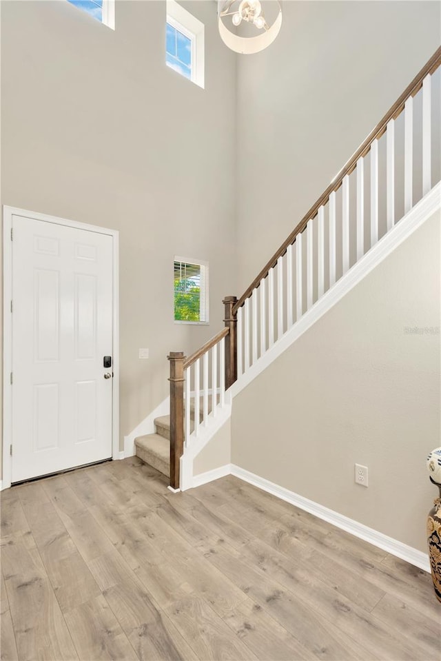
[[[336,178],[331,182],[331,184],[327,187],[327,190],[319,197],[319,199],[316,201],[316,203],[309,209],[307,214],[303,216],[302,220],[298,225],[294,228],[294,230],[289,234],[288,238],[284,243],[280,246],[278,251],[274,253],[274,255],[271,257],[269,262],[263,267],[263,269],[260,271],[258,276],[254,278],[254,281],[252,281],[251,285],[247,288],[244,294],[240,296],[238,299],[237,303],[233,307],[233,312],[236,314],[238,311],[239,307],[242,307],[242,305],[245,303],[247,298],[252,295],[254,292],[254,289],[257,289],[257,287],[260,285],[260,281],[263,278],[266,278],[269,270],[276,266],[277,260],[279,257],[282,257],[285,252],[287,252],[287,247],[291,245],[291,243],[294,243],[296,240],[296,236],[300,234],[300,232],[303,232],[305,230],[305,227],[307,226],[307,223],[311,218],[314,218],[316,213],[318,212],[319,207],[327,203],[329,200],[329,196],[332,192],[337,191],[340,186],[342,185],[342,181],[347,176],[347,174],[351,174],[351,172],[355,169],[356,164],[358,159],[360,159],[360,156],[365,156],[367,152],[369,152],[369,149],[371,148],[371,144],[373,143],[374,140],[379,139],[382,134],[385,132],[387,128],[387,123],[391,119],[396,119],[396,117],[402,112],[404,108],[404,103],[409,99],[411,96],[415,96],[415,94],[420,90],[422,87],[422,81],[424,78],[427,76],[427,74],[433,73],[436,69],[441,64],[441,46],[438,48],[438,50],[435,51],[435,53],[432,55],[431,59],[424,65],[422,70],[416,75],[416,77],[413,79],[413,81],[410,83],[410,85],[407,86],[407,88],[404,90],[404,92],[401,94],[400,98],[393,104],[391,109],[384,115],[383,119],[376,125],[376,128],[369,133],[367,136],[367,139],[360,145],[358,150],[351,156],[349,161],[345,164],[344,167],[342,167],[342,170],[338,173]]]

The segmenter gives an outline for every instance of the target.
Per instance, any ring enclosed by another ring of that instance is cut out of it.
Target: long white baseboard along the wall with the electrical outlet
[[[427,553],[422,553],[422,551],[413,549],[413,547],[409,547],[407,544],[398,542],[398,540],[394,540],[373,528],[369,528],[368,526],[350,519],[343,514],[339,514],[332,509],[328,509],[323,505],[319,505],[318,502],[314,502],[314,500],[299,496],[298,494],[295,494],[294,491],[289,491],[289,489],[285,489],[285,487],[280,487],[279,485],[274,484],[274,482],[269,482],[269,480],[265,480],[265,478],[261,478],[260,476],[234,464],[231,465],[231,474],[236,476],[236,478],[240,478],[240,480],[244,480],[244,482],[249,482],[249,484],[254,485],[254,487],[267,491],[268,494],[277,496],[277,498],[290,502],[291,505],[295,505],[310,514],[314,514],[317,518],[327,521],[337,528],[345,530],[354,537],[358,537],[383,551],[387,551],[387,553],[391,553],[392,556],[401,558],[401,560],[405,560],[411,565],[415,565],[424,571],[430,572],[429,557],[427,556]]]

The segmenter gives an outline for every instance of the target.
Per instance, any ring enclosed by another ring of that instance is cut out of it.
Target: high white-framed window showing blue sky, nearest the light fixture
[[[204,87],[204,24],[175,0],[167,0],[165,63]]]

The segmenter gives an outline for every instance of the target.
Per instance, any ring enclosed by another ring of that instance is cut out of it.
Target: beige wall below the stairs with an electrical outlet
[[[425,459],[441,432],[440,230],[438,211],[232,410],[232,463],[420,551],[436,496]]]

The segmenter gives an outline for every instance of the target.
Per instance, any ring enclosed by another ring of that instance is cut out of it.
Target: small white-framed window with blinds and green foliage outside
[[[174,321],[208,323],[208,263],[174,258]]]

